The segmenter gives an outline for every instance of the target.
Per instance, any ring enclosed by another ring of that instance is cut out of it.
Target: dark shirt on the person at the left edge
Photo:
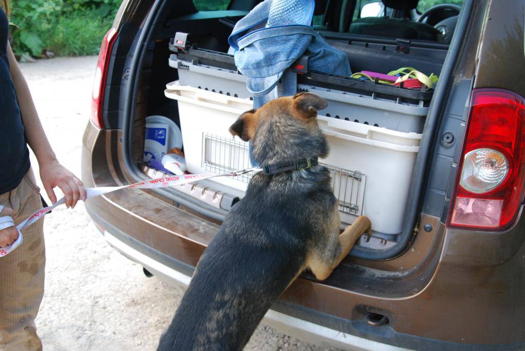
[[[9,72],[8,35],[9,22],[0,7],[0,194],[16,188],[29,170],[22,115]]]

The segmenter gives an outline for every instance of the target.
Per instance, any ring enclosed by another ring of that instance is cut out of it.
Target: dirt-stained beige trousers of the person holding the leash
[[[18,187],[0,195],[0,205],[15,212],[18,224],[42,207],[33,171]],[[44,295],[44,220],[24,228],[24,241],[0,257],[0,350],[41,350],[35,318]]]

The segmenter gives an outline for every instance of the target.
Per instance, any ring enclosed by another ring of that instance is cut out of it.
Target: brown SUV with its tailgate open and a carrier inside
[[[165,174],[144,158],[151,115],[181,129],[190,172],[246,164],[247,145],[211,123],[241,109],[224,104],[251,102],[227,39],[258,2],[123,1],[100,50],[86,185]],[[301,275],[264,323],[352,350],[525,349],[524,16],[522,0],[316,0],[314,28],[353,72],[413,67],[439,80],[410,89],[294,65],[299,90],[328,96],[319,123],[332,152],[321,161],[341,225],[364,214],[373,231],[326,281]],[[213,158],[223,150],[229,161]],[[249,181],[214,179],[122,189],[86,207],[112,247],[187,285]]]

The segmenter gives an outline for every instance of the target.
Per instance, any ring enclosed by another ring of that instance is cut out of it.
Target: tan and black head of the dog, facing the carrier
[[[247,111],[230,126],[230,133],[253,144],[255,161],[272,163],[306,157],[324,157],[328,144],[317,125],[317,111],[327,108],[311,93],[272,100]]]

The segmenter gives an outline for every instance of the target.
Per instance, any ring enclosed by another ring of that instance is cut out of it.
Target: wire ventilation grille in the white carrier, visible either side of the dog
[[[206,171],[220,174],[251,167],[248,143],[246,142],[203,133],[202,150],[202,166]],[[331,185],[334,195],[338,199],[339,211],[360,216],[363,212],[366,175],[328,164],[322,165],[330,171]],[[252,176],[253,174],[248,173],[235,179],[248,183]]]

